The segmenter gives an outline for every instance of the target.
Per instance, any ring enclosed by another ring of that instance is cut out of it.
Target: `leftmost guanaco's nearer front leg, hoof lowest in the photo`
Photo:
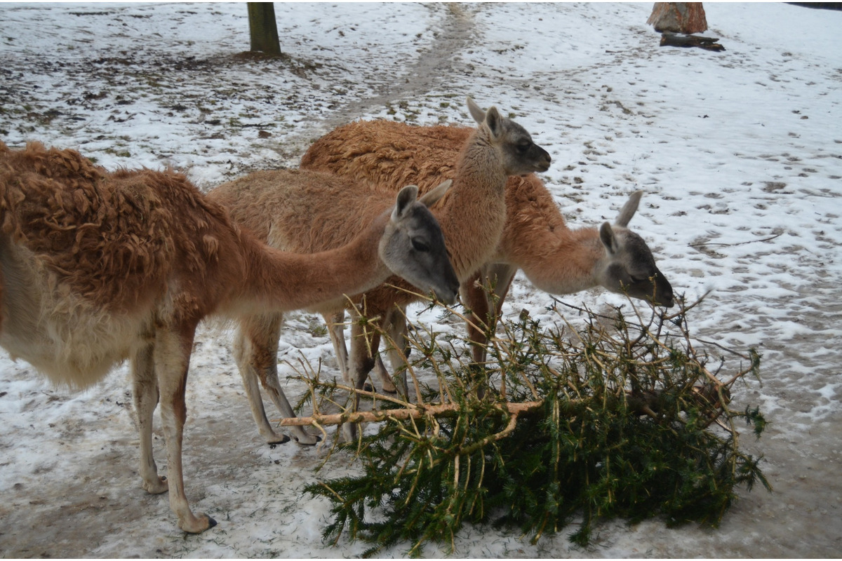
[[[195,325],[192,327],[195,329]],[[167,439],[169,507],[179,518],[179,528],[184,532],[199,533],[216,526],[216,521],[204,514],[195,516],[190,511],[187,495],[184,494],[184,472],[181,463],[184,421],[187,419],[184,389],[187,384],[194,329],[186,327],[180,332],[158,331],[154,356],[158,389],[161,392],[161,419],[164,437]]]

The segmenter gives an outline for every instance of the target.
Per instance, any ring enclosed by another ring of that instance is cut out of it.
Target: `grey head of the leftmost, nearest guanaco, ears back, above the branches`
[[[447,256],[445,236],[429,206],[445,194],[450,183],[440,184],[420,199],[415,185],[402,188],[379,248],[381,260],[392,273],[425,293],[432,292],[445,304],[456,302],[459,279]]]

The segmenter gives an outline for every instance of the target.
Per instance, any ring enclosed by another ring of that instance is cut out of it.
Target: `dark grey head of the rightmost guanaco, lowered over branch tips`
[[[626,228],[637,211],[642,194],[642,191],[632,193],[615,225],[605,222],[600,227],[606,258],[597,272],[597,279],[611,292],[669,308],[674,304],[672,286],[658,270],[655,257],[643,238]]]

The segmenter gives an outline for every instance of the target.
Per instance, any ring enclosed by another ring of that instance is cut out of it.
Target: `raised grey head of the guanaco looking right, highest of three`
[[[495,107],[483,111],[471,98],[467,98],[467,104],[477,124],[488,130],[489,140],[506,175],[546,172],[550,168],[549,153],[536,145],[520,124],[501,115]]]

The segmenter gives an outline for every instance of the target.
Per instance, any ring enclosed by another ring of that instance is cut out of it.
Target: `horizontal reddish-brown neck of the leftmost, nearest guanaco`
[[[266,312],[299,310],[376,287],[392,274],[377,251],[388,220],[382,214],[346,246],[319,253],[280,251],[255,241],[240,304]]]

